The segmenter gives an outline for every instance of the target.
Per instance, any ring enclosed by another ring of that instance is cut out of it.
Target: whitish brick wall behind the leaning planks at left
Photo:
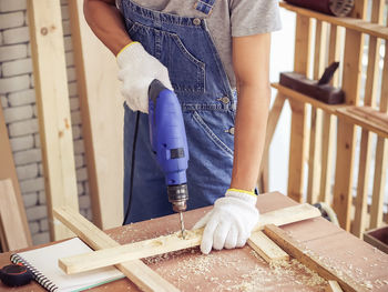
[[[39,244],[50,239],[25,9],[25,0],[0,0],[0,100],[32,240]],[[91,219],[68,0],[61,0],[61,9],[80,211]]]

